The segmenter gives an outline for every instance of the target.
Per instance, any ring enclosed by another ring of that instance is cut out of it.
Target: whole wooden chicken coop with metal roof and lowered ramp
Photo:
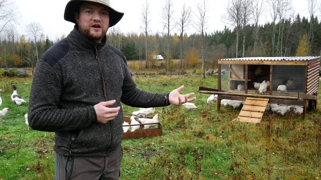
[[[220,59],[218,89],[211,92],[200,88],[199,92],[218,94],[218,110],[221,99],[246,101],[239,115],[240,121],[260,121],[267,103],[303,106],[304,119],[307,102],[308,110],[317,106],[319,70],[320,56]],[[259,94],[254,83],[265,80],[270,85]],[[285,85],[286,90],[280,85]]]

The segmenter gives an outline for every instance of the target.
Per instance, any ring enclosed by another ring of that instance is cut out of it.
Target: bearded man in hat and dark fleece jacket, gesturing
[[[109,0],[71,0],[65,20],[75,23],[65,38],[40,57],[30,90],[31,128],[56,132],[55,180],[118,179],[123,110],[181,105],[196,98],[136,88],[126,58],[106,42],[108,27],[124,13]]]

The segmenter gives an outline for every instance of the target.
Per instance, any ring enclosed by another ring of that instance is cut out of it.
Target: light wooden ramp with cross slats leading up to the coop
[[[241,122],[258,123],[261,121],[269,99],[248,97],[237,120]]]

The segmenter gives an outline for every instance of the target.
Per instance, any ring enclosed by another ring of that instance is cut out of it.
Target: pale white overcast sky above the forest
[[[150,0],[151,10],[152,10],[152,20],[150,28],[152,33],[164,32],[161,26],[161,7],[163,6],[165,0]],[[181,6],[184,2],[192,7],[193,11],[196,11],[195,4],[201,0],[174,0],[174,18],[178,19],[178,14],[181,10]],[[207,16],[209,17],[207,25],[207,32],[214,32],[216,30],[221,30],[224,28],[226,23],[221,22],[221,14],[226,10],[224,9],[228,0],[209,0],[208,9],[209,12]],[[319,0],[320,1],[320,0]],[[65,5],[68,0],[16,0],[21,17],[19,19],[19,24],[17,24],[17,29],[19,34],[25,34],[25,26],[31,22],[39,22],[43,27],[43,32],[45,35],[48,34],[49,38],[55,40],[56,37],[61,37],[64,33],[68,35],[73,29],[74,24],[64,20]],[[117,26],[120,28],[121,32],[137,32],[140,33],[139,28],[142,23],[141,9],[145,0],[110,0],[113,7],[125,13],[124,17]],[[308,16],[308,3],[306,0],[292,0],[292,5],[296,13],[300,16]],[[269,14],[268,8],[265,9],[265,13]],[[263,13],[261,22],[266,21],[265,13]],[[317,12],[320,14],[320,12]],[[268,17],[268,20],[270,18]],[[228,27],[230,25],[226,24]],[[232,27],[231,27],[232,28]],[[194,33],[196,30],[193,26],[187,28],[187,33]],[[178,28],[173,29],[171,34],[179,34]]]

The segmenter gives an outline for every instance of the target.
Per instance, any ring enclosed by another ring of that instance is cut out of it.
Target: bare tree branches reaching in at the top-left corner
[[[12,0],[0,0],[0,33],[9,23],[17,22],[17,6]]]

